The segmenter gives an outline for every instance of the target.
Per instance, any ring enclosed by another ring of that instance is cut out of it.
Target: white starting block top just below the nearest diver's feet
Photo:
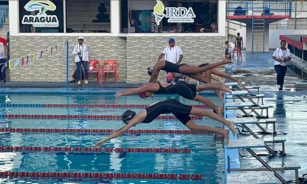
[[[263,139],[238,139],[231,140],[227,145],[228,149],[238,148],[264,148],[265,144]]]

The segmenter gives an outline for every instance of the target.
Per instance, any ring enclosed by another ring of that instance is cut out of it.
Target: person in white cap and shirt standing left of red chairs
[[[81,85],[82,81],[82,69],[81,64],[84,68],[84,84],[89,84],[89,71],[88,71],[88,61],[89,54],[87,52],[87,45],[83,44],[83,36],[79,36],[78,44],[73,48],[73,55],[75,56],[75,63],[77,65],[77,85]]]

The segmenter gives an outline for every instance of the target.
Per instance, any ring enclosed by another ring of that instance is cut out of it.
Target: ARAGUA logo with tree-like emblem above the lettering
[[[58,27],[57,15],[47,15],[46,11],[57,10],[57,7],[49,0],[31,0],[24,9],[27,11],[39,11],[37,15],[24,15],[22,24],[33,24],[35,27]]]

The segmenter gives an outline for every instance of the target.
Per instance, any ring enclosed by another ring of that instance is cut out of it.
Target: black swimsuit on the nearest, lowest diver
[[[156,102],[145,109],[147,116],[142,123],[150,123],[160,114],[172,113],[181,123],[186,125],[190,121],[191,109],[190,105],[184,105],[176,99]]]

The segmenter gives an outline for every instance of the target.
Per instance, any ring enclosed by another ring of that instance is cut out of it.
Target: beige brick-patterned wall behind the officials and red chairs
[[[167,39],[163,36],[88,36],[85,44],[89,47],[90,59],[118,59],[120,82],[148,82],[147,67],[153,66],[158,55],[167,46]],[[221,61],[225,53],[225,36],[186,36],[174,37],[177,45],[184,51],[184,63],[200,64]],[[77,36],[11,36],[10,59],[14,63],[17,58],[32,58],[33,53],[74,40],[70,44],[70,76],[75,70],[75,63],[71,54],[73,45],[77,43]],[[112,77],[110,80],[112,81]],[[161,72],[160,79],[165,79],[165,72]],[[96,76],[90,76],[96,81]],[[66,49],[59,49],[59,53],[44,53],[43,59],[31,61],[29,65],[12,67],[10,70],[12,82],[64,82],[66,81]]]

